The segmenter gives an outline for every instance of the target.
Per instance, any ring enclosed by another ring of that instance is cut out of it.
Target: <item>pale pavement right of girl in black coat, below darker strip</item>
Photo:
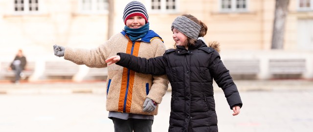
[[[313,90],[241,92],[238,116],[230,116],[220,93],[215,94],[220,132],[313,132]]]

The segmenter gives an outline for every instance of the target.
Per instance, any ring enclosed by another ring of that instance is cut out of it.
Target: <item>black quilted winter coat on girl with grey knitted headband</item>
[[[121,60],[117,65],[136,72],[167,75],[172,86],[169,132],[218,132],[213,79],[223,89],[230,109],[243,105],[219,53],[201,40],[188,50],[178,46],[148,60],[118,54]]]

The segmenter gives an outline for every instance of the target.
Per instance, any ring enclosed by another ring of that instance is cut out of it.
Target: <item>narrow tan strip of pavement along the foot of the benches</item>
[[[306,90],[313,89],[313,80],[235,80],[239,91]],[[214,90],[222,91],[216,84]],[[89,82],[23,82],[13,84],[0,82],[0,94],[23,93],[105,93],[105,81]],[[169,91],[171,87],[169,86]]]

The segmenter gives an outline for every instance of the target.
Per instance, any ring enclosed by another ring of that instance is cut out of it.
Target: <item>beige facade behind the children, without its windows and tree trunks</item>
[[[82,0],[39,0],[39,11],[34,13],[16,13],[13,1],[0,1],[0,44],[6,47],[3,52],[17,48],[49,52],[52,44],[91,48],[108,40],[108,11],[81,12]],[[122,14],[129,1],[114,0],[114,33],[124,27]],[[206,23],[205,39],[219,41],[224,50],[270,48],[275,0],[246,0],[247,9],[243,12],[222,12],[221,0],[176,0],[175,11],[152,11],[151,0],[139,1],[147,6],[150,29],[169,48],[174,44],[171,22],[181,14],[192,14]],[[297,10],[298,1],[290,2],[285,49],[297,48],[298,20],[313,19],[313,11]]]

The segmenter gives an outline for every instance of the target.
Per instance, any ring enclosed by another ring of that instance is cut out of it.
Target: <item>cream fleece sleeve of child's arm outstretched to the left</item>
[[[102,68],[107,67],[105,60],[109,56],[109,53],[110,49],[108,48],[107,43],[101,44],[93,49],[66,47],[64,59],[78,65]]]

